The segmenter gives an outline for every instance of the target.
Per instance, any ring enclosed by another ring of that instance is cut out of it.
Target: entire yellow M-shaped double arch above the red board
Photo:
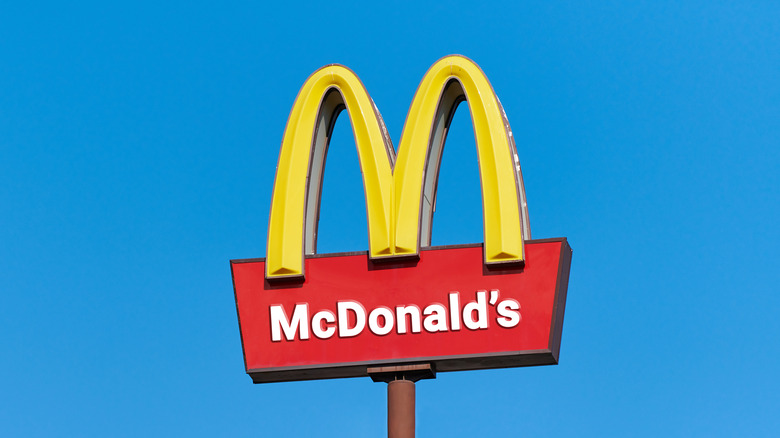
[[[381,116],[351,70],[331,65],[306,80],[290,112],[279,155],[268,228],[267,278],[304,274],[305,203],[309,184],[314,183],[308,180],[313,139],[321,105],[332,89],[341,93],[352,121],[363,173],[370,257],[419,254],[426,169],[439,164],[428,162],[429,149],[434,147],[432,127],[443,110],[444,89],[452,81],[460,84],[474,125],[482,181],[485,263],[524,260],[523,238],[530,238],[530,233],[524,205],[521,207],[522,177],[509,125],[484,73],[468,58],[453,55],[437,61],[423,77],[407,115],[395,163]]]

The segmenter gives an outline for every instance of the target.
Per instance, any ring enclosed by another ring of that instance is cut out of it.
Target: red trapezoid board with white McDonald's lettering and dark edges
[[[482,245],[419,260],[311,256],[303,282],[269,283],[262,259],[233,260],[244,363],[255,383],[360,377],[367,367],[438,372],[558,362],[571,249],[526,242],[523,267],[488,269]]]

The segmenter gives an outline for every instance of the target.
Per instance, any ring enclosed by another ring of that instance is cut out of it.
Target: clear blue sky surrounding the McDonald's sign
[[[534,238],[574,250],[560,364],[417,385],[421,437],[777,436],[780,6],[0,7],[0,434],[385,436],[368,378],[253,385],[230,259],[265,256],[299,87],[341,63],[397,144],[459,53],[512,124]],[[434,244],[482,241],[468,110]],[[347,117],[320,252],[367,249]]]

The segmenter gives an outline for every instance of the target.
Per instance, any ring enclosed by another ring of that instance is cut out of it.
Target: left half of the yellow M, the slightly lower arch
[[[360,79],[344,66],[329,65],[303,84],[284,131],[268,224],[268,278],[303,275],[305,233],[312,236],[307,239],[311,252],[316,240],[318,185],[327,137],[344,107],[352,120],[363,170],[371,255],[392,255],[393,146]],[[307,202],[307,198],[316,199]]]

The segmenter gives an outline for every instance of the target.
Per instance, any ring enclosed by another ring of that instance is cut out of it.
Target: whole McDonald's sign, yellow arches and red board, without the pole
[[[442,149],[464,101],[484,243],[431,247]],[[369,248],[317,254],[325,155],[343,110],[363,173]],[[473,61],[447,56],[423,76],[397,155],[362,82],[328,65],[306,80],[289,115],[266,257],[231,261],[244,365],[261,383],[398,364],[439,372],[555,364],[570,263],[566,238],[531,240],[512,130]]]

